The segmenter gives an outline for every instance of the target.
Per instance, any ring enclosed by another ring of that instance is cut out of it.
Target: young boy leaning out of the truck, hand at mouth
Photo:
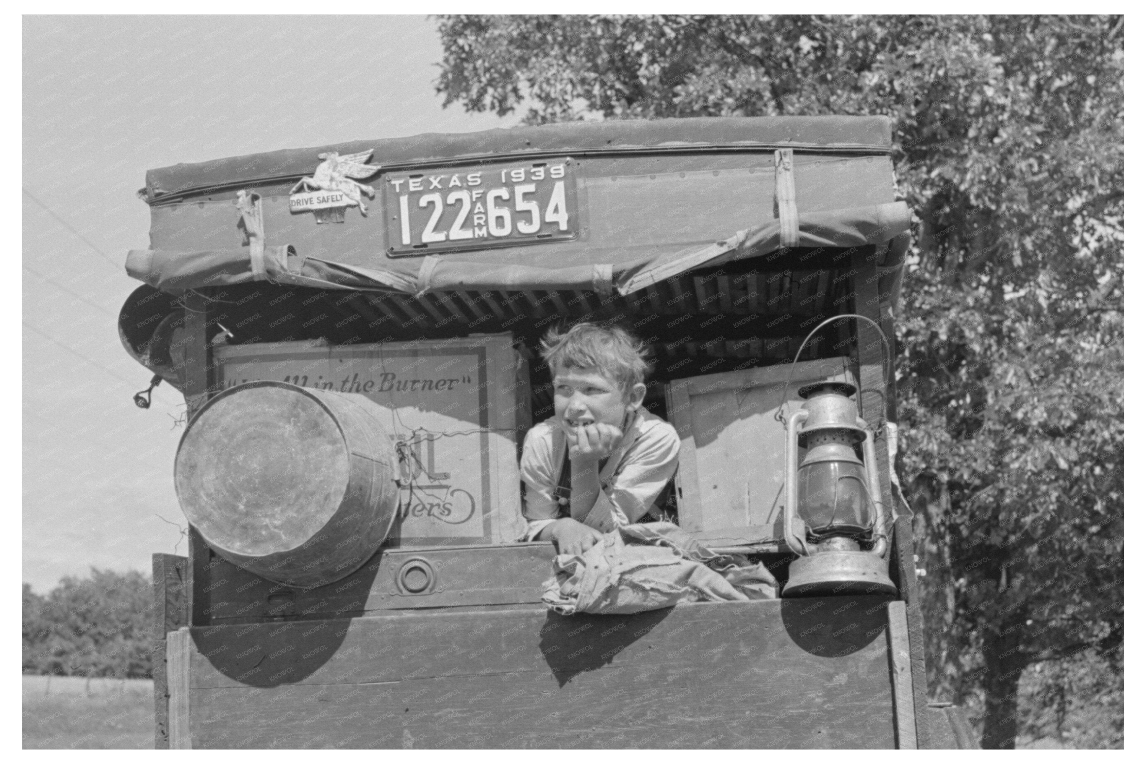
[[[647,350],[625,329],[554,328],[542,356],[554,376],[554,416],[525,436],[524,540],[579,554],[653,509],[676,473],[681,438],[641,406]]]

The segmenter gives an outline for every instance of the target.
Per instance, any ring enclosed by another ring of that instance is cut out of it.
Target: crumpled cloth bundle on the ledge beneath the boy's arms
[[[541,600],[562,615],[643,613],[680,602],[776,599],[759,562],[716,554],[673,523],[623,525],[583,554],[559,554]]]

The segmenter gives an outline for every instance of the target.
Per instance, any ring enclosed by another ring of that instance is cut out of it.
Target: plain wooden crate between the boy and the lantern
[[[708,374],[668,384],[668,418],[681,435],[676,478],[681,527],[711,546],[778,545],[784,506],[784,426],[776,420],[792,375],[785,415],[800,387],[855,383],[847,358],[825,358]]]

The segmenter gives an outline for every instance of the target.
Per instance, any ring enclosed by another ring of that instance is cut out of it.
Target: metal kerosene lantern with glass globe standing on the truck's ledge
[[[784,536],[799,556],[784,597],[895,594],[874,432],[856,414],[856,388],[817,382],[799,392],[806,403],[785,426],[784,502]]]

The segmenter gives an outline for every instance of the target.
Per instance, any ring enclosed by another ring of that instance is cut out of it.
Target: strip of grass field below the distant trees
[[[150,679],[23,678],[24,748],[152,748],[154,712]]]

